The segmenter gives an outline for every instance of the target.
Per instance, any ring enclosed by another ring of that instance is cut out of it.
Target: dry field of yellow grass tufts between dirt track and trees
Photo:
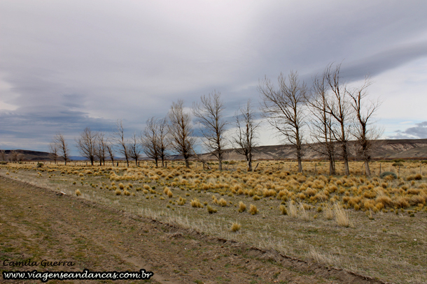
[[[329,177],[323,162],[304,163],[305,174],[292,162],[227,167],[8,164],[0,175],[382,281],[427,282],[426,164],[381,163],[398,179],[364,177],[358,162],[348,177]]]

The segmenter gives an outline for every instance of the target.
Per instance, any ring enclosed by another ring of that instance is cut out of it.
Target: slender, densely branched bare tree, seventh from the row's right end
[[[184,112],[183,105],[183,100],[172,103],[168,114],[170,121],[169,133],[171,135],[172,149],[181,154],[186,160],[186,167],[190,167],[188,159],[193,154],[195,137],[193,137],[190,114]]]

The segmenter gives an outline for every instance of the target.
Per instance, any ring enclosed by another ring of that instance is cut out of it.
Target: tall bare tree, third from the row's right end
[[[334,121],[328,112],[328,87],[325,73],[315,77],[311,91],[307,93],[307,105],[311,114],[310,135],[314,144],[311,149],[329,160],[329,174],[335,174],[335,140],[332,137]]]

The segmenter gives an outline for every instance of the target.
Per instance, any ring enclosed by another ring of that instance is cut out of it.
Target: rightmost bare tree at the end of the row
[[[365,162],[365,173],[370,176],[369,162],[371,158],[371,152],[376,147],[376,140],[382,134],[382,131],[375,128],[372,124],[374,121],[373,115],[378,110],[381,102],[366,102],[367,100],[367,87],[370,86],[370,79],[366,77],[365,83],[359,89],[354,89],[349,92],[351,98],[351,107],[353,107],[356,119],[353,120],[354,127],[353,136],[357,140],[357,154],[363,158]]]

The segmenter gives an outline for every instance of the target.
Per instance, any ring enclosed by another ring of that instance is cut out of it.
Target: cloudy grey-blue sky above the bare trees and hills
[[[0,149],[48,151],[89,126],[130,137],[178,99],[220,92],[230,122],[264,77],[330,63],[381,100],[388,139],[427,138],[427,2],[0,1]],[[265,126],[267,126],[264,123]],[[232,132],[232,124],[229,125]],[[279,137],[262,127],[260,144]]]

